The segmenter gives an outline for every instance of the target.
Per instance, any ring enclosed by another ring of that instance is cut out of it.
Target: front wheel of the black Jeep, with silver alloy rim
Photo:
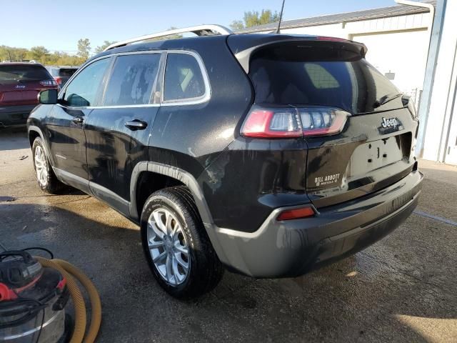
[[[34,144],[31,148],[32,157],[34,161],[34,170],[36,181],[43,192],[49,194],[57,194],[64,189],[62,184],[54,174],[49,157],[44,149],[43,140],[40,137],[36,137]]]

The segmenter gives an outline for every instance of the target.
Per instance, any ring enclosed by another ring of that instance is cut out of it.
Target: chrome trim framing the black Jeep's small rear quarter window
[[[201,56],[199,54],[197,54],[195,51],[190,51],[190,50],[166,50],[165,52],[166,52],[166,61],[165,61],[164,74],[162,75],[161,106],[196,105],[196,104],[203,104],[204,102],[209,101],[209,99],[211,99],[211,85],[209,84],[208,72],[206,71],[206,68],[201,59]],[[194,57],[194,59],[196,59],[197,64],[199,64],[201,76],[203,77],[203,82],[205,85],[205,93],[202,96],[197,96],[194,98],[187,98],[187,99],[164,100],[165,73],[166,73],[166,64],[168,63],[169,54],[188,54],[188,55],[191,55],[192,57]]]

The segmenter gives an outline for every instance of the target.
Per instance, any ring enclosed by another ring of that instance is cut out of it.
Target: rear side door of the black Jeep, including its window
[[[84,124],[91,192],[124,214],[129,213],[134,166],[148,159],[149,133],[159,109],[153,94],[161,56],[116,56],[101,106]]]

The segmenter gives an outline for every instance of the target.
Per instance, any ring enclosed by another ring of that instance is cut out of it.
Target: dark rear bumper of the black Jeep
[[[275,209],[252,233],[206,229],[230,269],[252,277],[296,277],[355,254],[396,229],[416,208],[422,179],[413,171],[390,187],[307,219],[278,222],[286,208]]]

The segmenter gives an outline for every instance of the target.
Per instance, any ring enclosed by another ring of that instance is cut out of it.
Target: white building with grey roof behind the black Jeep
[[[457,1],[393,5],[287,20],[281,23],[281,33],[335,36],[366,44],[366,59],[416,102],[421,119],[418,154],[457,164]],[[240,32],[268,33],[276,26]]]

